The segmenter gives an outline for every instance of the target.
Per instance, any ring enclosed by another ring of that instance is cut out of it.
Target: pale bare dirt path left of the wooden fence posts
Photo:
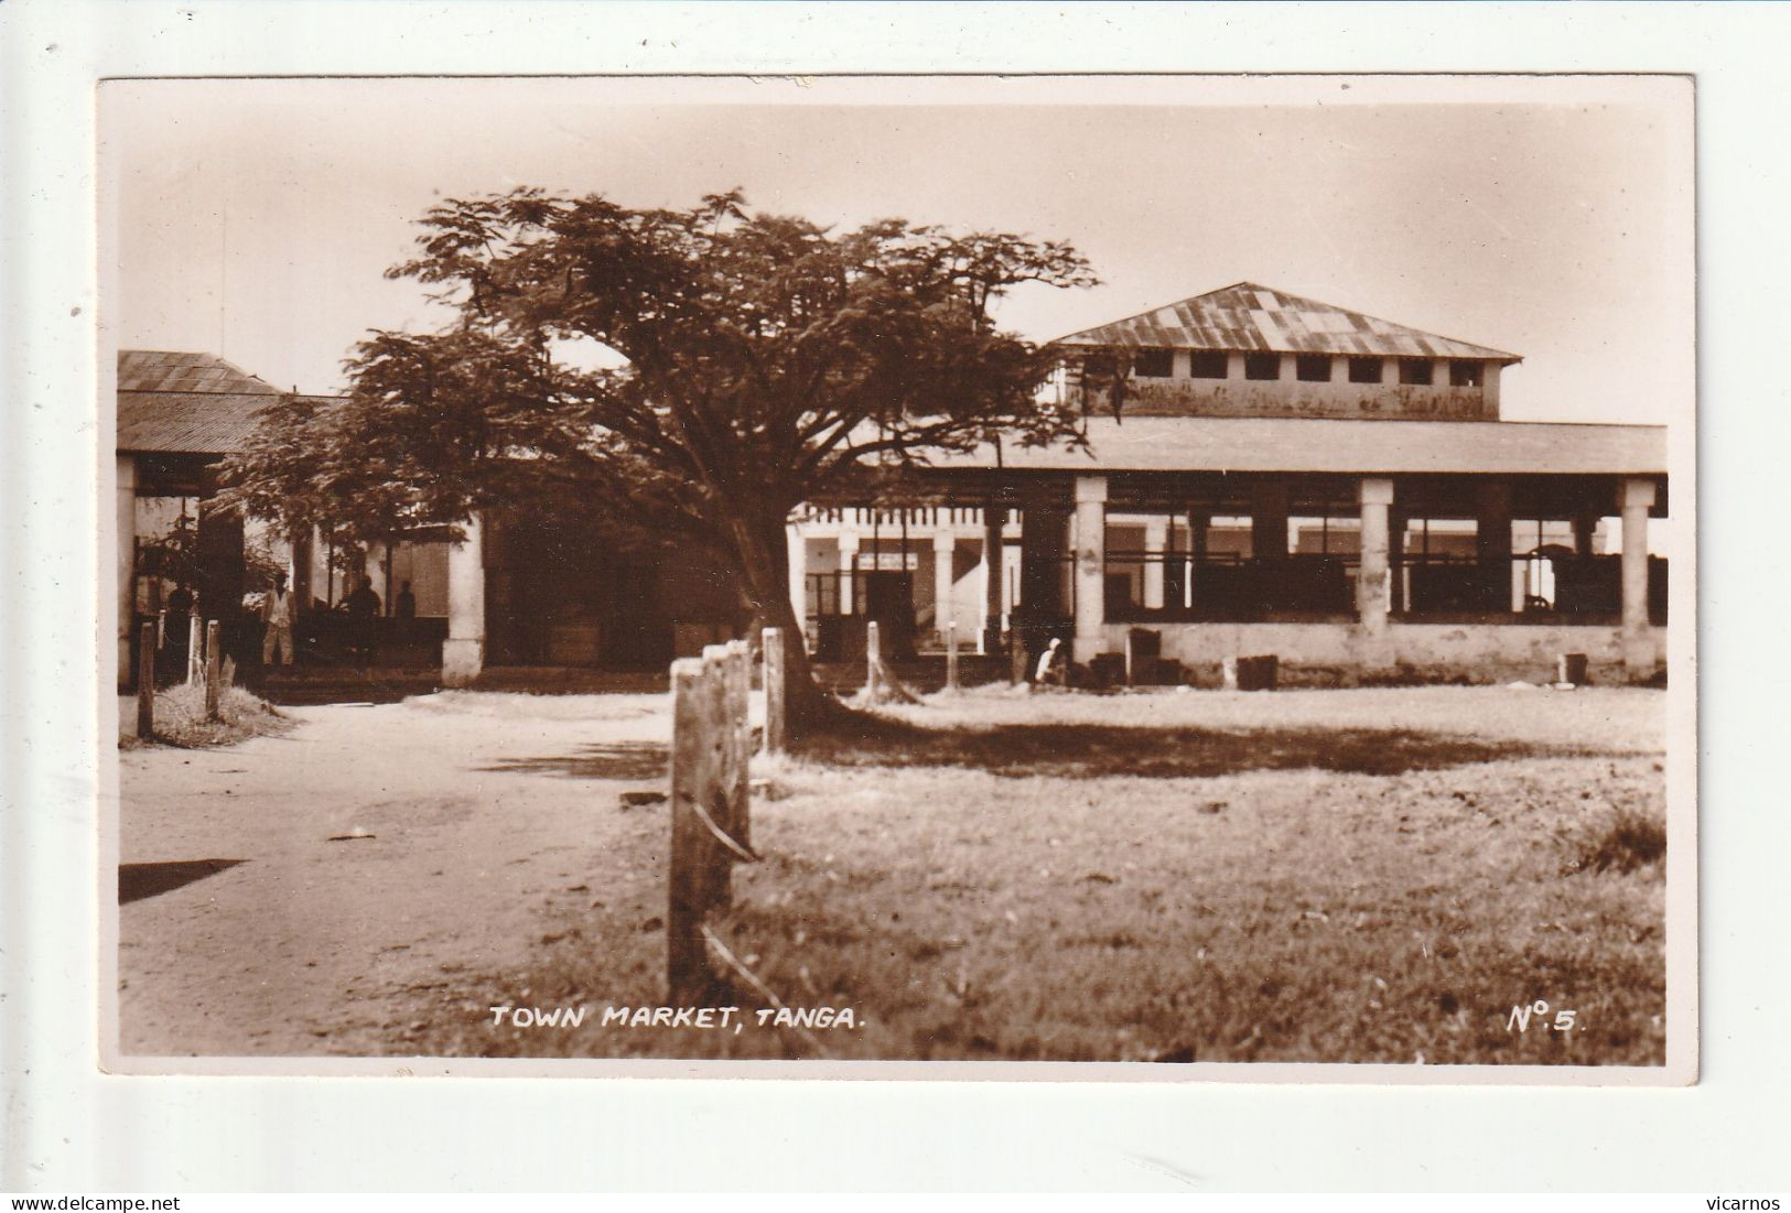
[[[589,893],[670,737],[664,696],[288,714],[285,737],[120,755],[124,1054],[381,1052],[417,991],[512,968]]]

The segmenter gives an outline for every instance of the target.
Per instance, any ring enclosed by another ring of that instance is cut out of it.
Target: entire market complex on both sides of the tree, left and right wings
[[[1517,354],[1250,283],[1058,347],[1048,390],[1084,410],[1085,445],[938,454],[903,494],[792,517],[790,598],[817,660],[860,655],[878,619],[896,655],[1060,639],[1103,678],[1134,674],[1141,635],[1159,674],[1189,682],[1245,655],[1293,680],[1538,680],[1564,653],[1599,682],[1662,669],[1667,565],[1648,540],[1667,515],[1664,428],[1503,420]],[[340,553],[208,510],[217,463],[276,397],[213,356],[120,354],[120,676],[170,589],[145,544],[188,515],[199,598],[240,633],[258,560],[290,571],[315,653],[351,573],[385,614],[408,581],[405,639],[448,685],[493,667],[663,671],[747,623],[716,569],[573,519],[480,517],[455,544]]]

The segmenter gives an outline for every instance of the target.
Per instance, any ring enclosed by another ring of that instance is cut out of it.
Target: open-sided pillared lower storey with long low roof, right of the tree
[[[1666,481],[1662,428],[1220,417],[1096,419],[1087,449],[983,447],[912,479],[983,524],[987,649],[1057,637],[1100,666],[1148,630],[1189,669],[1544,678],[1585,653],[1601,682],[1664,662]]]

